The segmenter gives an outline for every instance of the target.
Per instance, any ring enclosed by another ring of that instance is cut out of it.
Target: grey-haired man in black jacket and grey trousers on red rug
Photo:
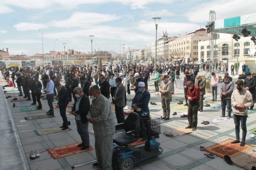
[[[75,122],[77,127],[77,132],[81,137],[82,143],[78,144],[78,147],[82,147],[81,150],[85,150],[89,148],[90,138],[88,132],[88,119],[86,116],[90,110],[90,100],[83,93],[83,89],[81,87],[76,87],[74,89],[75,96],[77,101],[75,102],[71,113],[75,116]]]

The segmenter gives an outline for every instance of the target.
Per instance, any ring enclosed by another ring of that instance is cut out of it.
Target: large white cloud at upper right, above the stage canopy
[[[185,16],[191,22],[207,22],[210,10],[216,11],[216,20],[219,20],[255,13],[255,6],[255,0],[247,0],[244,3],[241,0],[213,0],[192,7]]]

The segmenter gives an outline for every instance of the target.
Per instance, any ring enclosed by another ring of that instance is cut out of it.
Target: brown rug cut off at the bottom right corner
[[[250,170],[253,166],[256,166],[256,152],[250,150],[234,157],[232,161],[236,166]]]

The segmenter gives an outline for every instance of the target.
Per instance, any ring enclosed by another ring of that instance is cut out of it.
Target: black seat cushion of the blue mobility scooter
[[[113,142],[119,146],[126,146],[130,143],[136,142],[137,140],[138,139],[134,135],[127,133],[118,133],[113,137]]]

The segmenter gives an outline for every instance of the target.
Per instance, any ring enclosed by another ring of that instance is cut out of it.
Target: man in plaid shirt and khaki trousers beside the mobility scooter
[[[91,86],[89,91],[91,99],[93,100],[87,119],[93,125],[95,153],[97,157],[97,162],[93,163],[92,166],[102,166],[102,169],[112,170],[115,122],[111,112],[111,105],[109,100],[100,93],[98,86]]]

